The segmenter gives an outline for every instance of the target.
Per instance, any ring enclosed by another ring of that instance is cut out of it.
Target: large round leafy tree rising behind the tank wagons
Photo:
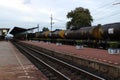
[[[75,10],[68,12],[67,18],[71,19],[66,24],[67,29],[78,29],[80,27],[91,26],[91,22],[93,21],[89,10],[82,7],[78,7]]]

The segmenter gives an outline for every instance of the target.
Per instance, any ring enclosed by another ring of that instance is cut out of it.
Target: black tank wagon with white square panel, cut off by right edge
[[[102,26],[103,40],[120,41],[120,23],[106,24]]]

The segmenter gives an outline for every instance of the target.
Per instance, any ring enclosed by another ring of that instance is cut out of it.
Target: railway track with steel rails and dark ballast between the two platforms
[[[13,43],[49,80],[105,80],[85,70],[42,53],[28,45]]]

